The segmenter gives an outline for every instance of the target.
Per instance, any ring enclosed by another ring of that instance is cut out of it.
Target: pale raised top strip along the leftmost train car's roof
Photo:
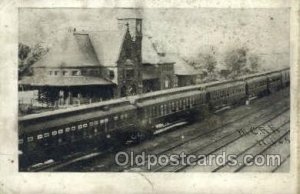
[[[71,113],[71,112],[78,112],[78,111],[82,111],[82,110],[100,108],[100,107],[104,107],[104,106],[123,104],[123,103],[129,104],[130,103],[129,99],[124,97],[124,98],[119,98],[119,99],[107,100],[107,101],[103,101],[103,102],[96,102],[96,103],[92,103],[92,104],[80,105],[77,107],[70,107],[67,109],[59,109],[59,110],[42,112],[42,113],[38,113],[38,114],[30,114],[30,115],[20,116],[19,121],[36,119],[36,118],[41,118],[41,117],[48,117],[48,116],[53,116],[53,115],[60,115],[60,114]]]

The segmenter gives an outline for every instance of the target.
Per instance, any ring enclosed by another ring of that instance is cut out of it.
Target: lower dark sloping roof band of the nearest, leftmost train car
[[[81,122],[81,121],[87,121],[90,119],[95,119],[98,117],[105,117],[107,115],[115,114],[118,112],[124,112],[124,111],[130,111],[134,110],[136,107],[132,105],[127,105],[125,107],[118,107],[112,110],[108,111],[91,111],[87,112],[84,114],[76,114],[76,115],[69,115],[67,117],[61,117],[61,118],[55,118],[55,119],[49,119],[44,122],[38,122],[36,124],[29,124],[28,126],[23,126],[23,128],[19,129],[20,135],[23,133],[31,133],[31,132],[36,132],[42,129],[50,129],[50,128],[55,128],[55,127],[61,127],[62,125],[66,125],[69,123],[76,123],[76,122]]]

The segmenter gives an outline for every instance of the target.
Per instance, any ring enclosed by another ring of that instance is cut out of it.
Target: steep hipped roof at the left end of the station
[[[100,66],[88,34],[68,32],[33,67]]]

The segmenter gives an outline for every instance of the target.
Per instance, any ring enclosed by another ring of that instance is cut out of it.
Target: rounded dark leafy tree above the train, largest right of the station
[[[246,68],[247,52],[248,49],[242,47],[226,53],[224,62],[232,76],[241,75],[242,71]]]

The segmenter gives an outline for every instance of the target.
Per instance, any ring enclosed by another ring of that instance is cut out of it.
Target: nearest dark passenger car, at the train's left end
[[[132,130],[135,119],[136,107],[124,98],[20,117],[21,159],[32,163],[49,154],[55,157],[60,151],[121,138],[122,132]]]

